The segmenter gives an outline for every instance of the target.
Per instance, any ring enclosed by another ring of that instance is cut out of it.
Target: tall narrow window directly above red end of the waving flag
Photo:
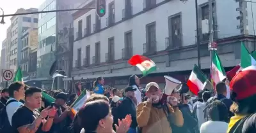
[[[132,31],[125,32],[124,41],[124,58],[129,58],[132,56]]]

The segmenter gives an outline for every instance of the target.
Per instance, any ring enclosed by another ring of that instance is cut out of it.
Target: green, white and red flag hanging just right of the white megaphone
[[[195,64],[194,68],[189,76],[189,79],[187,81],[189,90],[193,94],[198,95],[198,92],[200,90],[204,90],[204,87],[207,84],[207,81],[208,80],[207,80],[205,74]]]

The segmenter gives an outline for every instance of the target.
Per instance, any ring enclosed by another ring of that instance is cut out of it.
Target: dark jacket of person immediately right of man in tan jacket
[[[194,132],[194,129],[198,122],[192,115],[188,104],[179,104],[179,109],[183,115],[184,118],[184,124],[182,127],[177,127],[174,124],[171,124],[172,132],[173,133],[192,133]]]

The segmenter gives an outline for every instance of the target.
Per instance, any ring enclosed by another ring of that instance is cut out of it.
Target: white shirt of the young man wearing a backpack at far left
[[[10,97],[9,99],[8,99],[8,101],[10,101],[10,100],[13,100],[13,98],[12,97]],[[14,100],[16,100],[16,99],[14,99]],[[8,102],[7,101],[7,102]],[[10,104],[8,104],[7,106],[6,106],[6,112],[7,112],[7,116],[8,116],[8,120],[9,120],[9,123],[10,123],[10,125],[12,125],[12,116],[13,116],[13,114],[15,113],[15,111],[20,107],[20,106],[22,106],[23,104],[22,104],[22,102],[11,102]]]

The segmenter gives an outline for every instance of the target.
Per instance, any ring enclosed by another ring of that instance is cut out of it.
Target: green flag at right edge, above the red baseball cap
[[[256,60],[245,48],[244,43],[241,43],[241,67],[246,68],[248,66],[255,66]]]

